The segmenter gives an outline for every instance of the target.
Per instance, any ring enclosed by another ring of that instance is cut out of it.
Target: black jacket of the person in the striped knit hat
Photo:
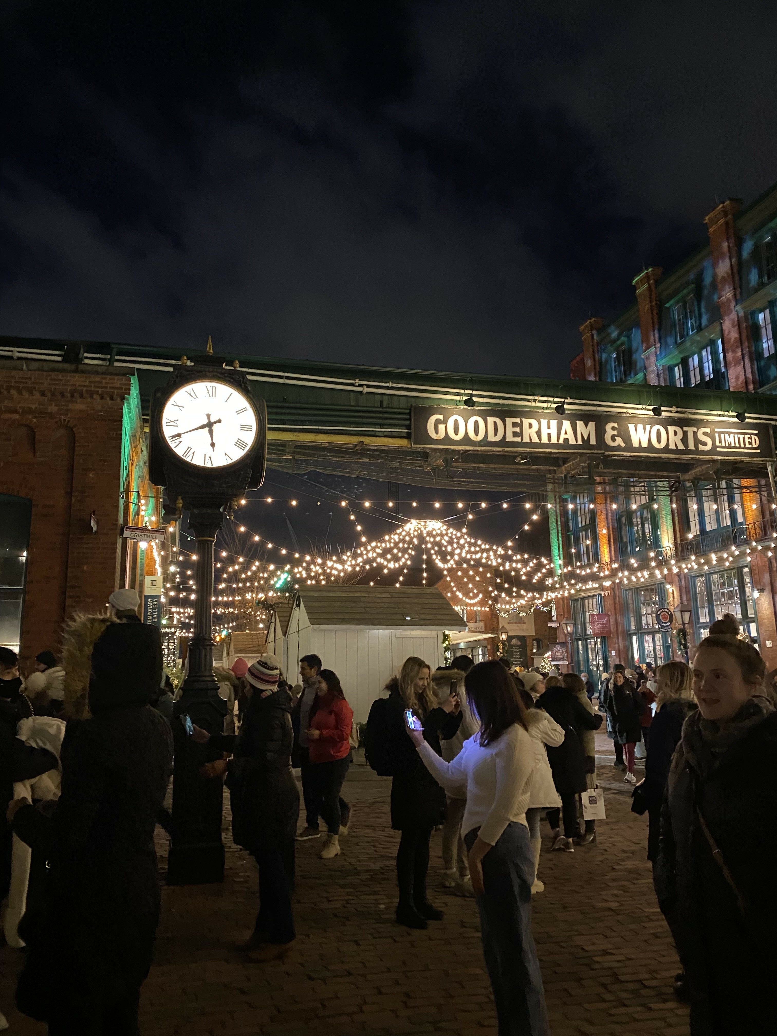
[[[253,855],[279,848],[294,875],[294,836],[299,793],[291,772],[291,695],[285,687],[262,697],[251,695],[240,732],[210,739],[214,748],[232,752],[227,787],[232,804],[235,842]]]

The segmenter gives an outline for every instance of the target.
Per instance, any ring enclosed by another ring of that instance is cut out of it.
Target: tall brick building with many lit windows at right
[[[633,281],[633,306],[582,324],[573,379],[777,393],[777,185],[746,208],[722,202],[704,223],[703,248],[668,272],[643,269]],[[594,474],[559,493],[550,512],[559,569],[598,565],[622,579],[650,570],[628,585],[613,579],[596,594],[558,599],[559,614],[574,621],[576,668],[682,658],[673,632],[659,628],[662,606],[690,610],[691,646],[715,618],[733,613],[770,668],[777,665],[774,484],[737,477],[733,465],[720,463],[689,474]],[[610,616],[609,635],[592,632],[591,614]]]

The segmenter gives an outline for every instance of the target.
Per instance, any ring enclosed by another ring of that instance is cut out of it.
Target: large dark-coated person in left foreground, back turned
[[[153,829],[173,755],[170,725],[149,704],[161,677],[159,632],[107,623],[91,648],[91,718],[68,724],[60,799],[50,814],[24,800],[8,810],[50,863],[45,908],[28,905],[20,924],[17,988],[20,1010],[50,1036],[138,1032],[160,918]]]

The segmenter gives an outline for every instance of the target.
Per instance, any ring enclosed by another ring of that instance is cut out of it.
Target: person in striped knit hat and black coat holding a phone
[[[198,743],[232,754],[202,772],[226,774],[232,836],[259,867],[259,913],[240,947],[254,961],[284,957],[295,939],[291,893],[299,793],[291,772],[291,694],[288,684],[279,686],[280,675],[278,659],[262,655],[246,673],[251,694],[239,733],[210,736],[199,727],[194,732]]]

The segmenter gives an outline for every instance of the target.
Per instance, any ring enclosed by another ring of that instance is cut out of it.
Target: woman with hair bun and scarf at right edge
[[[661,816],[656,892],[688,976],[692,1036],[772,1033],[777,963],[777,713],[752,646],[713,635],[693,660]]]

